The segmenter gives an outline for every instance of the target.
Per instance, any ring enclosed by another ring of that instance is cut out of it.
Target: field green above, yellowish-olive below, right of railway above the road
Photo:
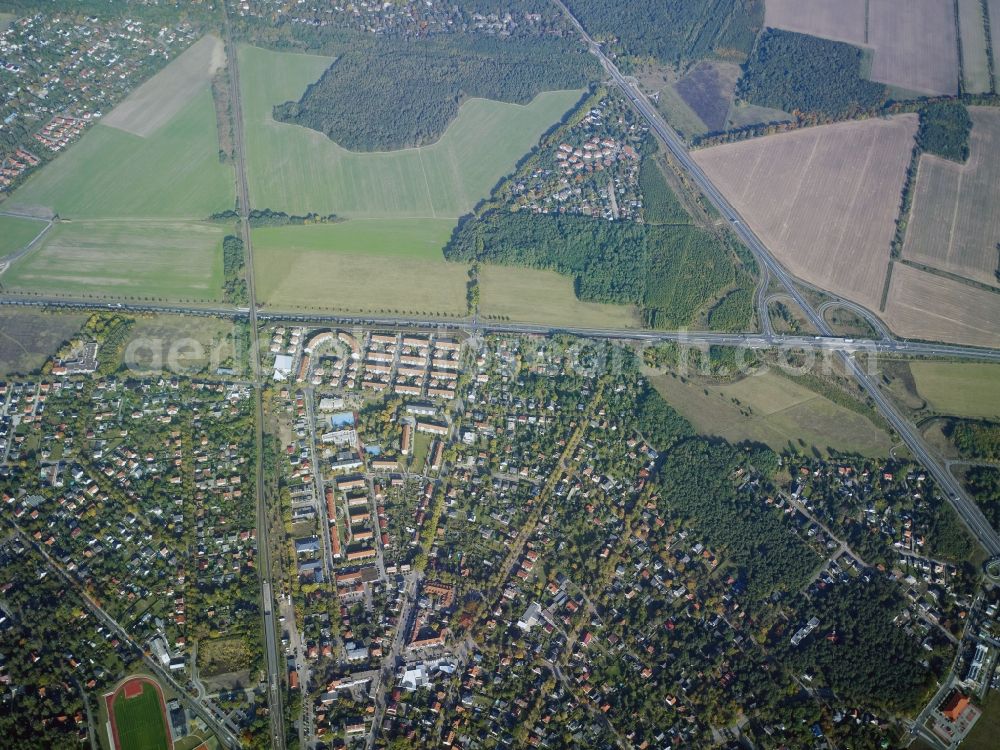
[[[441,254],[451,226],[410,219],[255,229],[257,294],[276,309],[462,315],[468,267]]]

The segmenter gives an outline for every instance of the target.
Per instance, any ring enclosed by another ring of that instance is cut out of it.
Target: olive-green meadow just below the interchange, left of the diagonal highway
[[[682,382],[672,375],[650,382],[698,432],[730,442],[868,456],[884,456],[892,447],[889,436],[864,416],[774,372],[726,385]]]

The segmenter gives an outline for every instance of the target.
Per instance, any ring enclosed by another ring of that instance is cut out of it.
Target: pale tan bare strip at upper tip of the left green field
[[[102,122],[146,138],[173,119],[225,64],[222,40],[203,36],[129,94]]]

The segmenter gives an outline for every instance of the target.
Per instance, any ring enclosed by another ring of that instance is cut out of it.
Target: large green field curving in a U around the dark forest
[[[255,47],[239,54],[252,203],[300,215],[457,218],[486,197],[582,93],[546,92],[525,106],[471,99],[434,144],[355,153],[272,117],[274,105],[297,100],[330,58]]]

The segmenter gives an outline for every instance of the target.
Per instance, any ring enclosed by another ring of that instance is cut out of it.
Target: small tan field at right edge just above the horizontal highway
[[[1000,347],[1000,294],[896,263],[883,319],[907,338]]]

